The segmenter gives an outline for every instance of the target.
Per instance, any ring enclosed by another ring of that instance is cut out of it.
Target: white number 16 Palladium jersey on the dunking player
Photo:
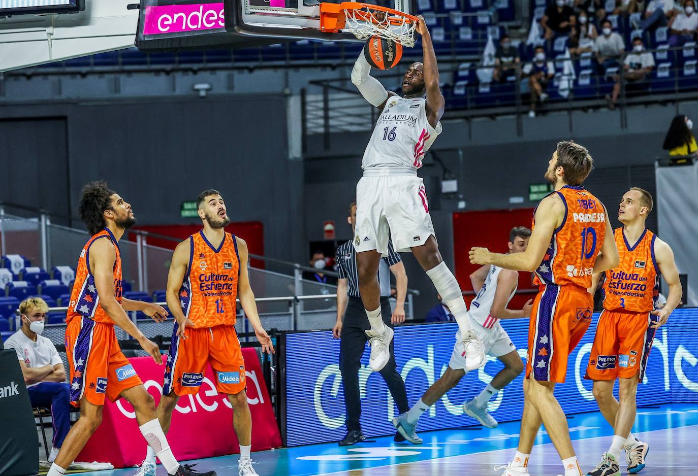
[[[390,96],[380,113],[361,167],[422,167],[424,153],[441,133],[426,120],[426,99]]]

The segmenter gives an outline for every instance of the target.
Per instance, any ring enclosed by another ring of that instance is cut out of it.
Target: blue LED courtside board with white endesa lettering
[[[570,355],[567,381],[558,384],[556,397],[565,413],[597,411],[592,382],[584,380],[598,314],[584,339]],[[526,361],[528,319],[500,321]],[[639,385],[639,406],[669,402],[698,402],[698,309],[676,309],[669,323],[658,330],[644,382]],[[445,371],[453,350],[455,323],[398,326],[395,353],[398,371],[407,385],[410,406]],[[392,418],[397,408],[380,374],[369,367],[367,347],[359,369],[361,424],[366,436],[395,433]],[[286,444],[305,445],[340,440],[346,433],[344,395],[339,370],[339,340],[332,332],[294,332],[285,335]],[[503,367],[496,358],[463,377],[419,419],[417,432],[478,424],[464,415],[463,402],[472,399]],[[489,404],[500,422],[520,420],[523,410],[523,374]],[[616,395],[617,395],[616,385]]]

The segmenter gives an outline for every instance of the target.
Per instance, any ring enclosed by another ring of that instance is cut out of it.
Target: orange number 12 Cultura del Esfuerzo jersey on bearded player
[[[195,328],[235,325],[240,275],[235,235],[225,233],[217,249],[206,239],[203,230],[190,236],[189,243],[189,267],[179,289],[182,312]]]

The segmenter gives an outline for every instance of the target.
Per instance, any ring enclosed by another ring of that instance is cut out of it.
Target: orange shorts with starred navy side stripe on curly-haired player
[[[80,399],[104,405],[124,390],[142,385],[131,362],[121,352],[114,325],[78,316],[66,326],[66,353],[70,366],[70,404]]]

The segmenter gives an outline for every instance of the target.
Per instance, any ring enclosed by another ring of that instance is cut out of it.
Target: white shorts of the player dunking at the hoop
[[[434,234],[426,190],[411,169],[369,169],[356,186],[357,252],[376,249],[387,256],[388,238],[396,252],[424,245]]]

